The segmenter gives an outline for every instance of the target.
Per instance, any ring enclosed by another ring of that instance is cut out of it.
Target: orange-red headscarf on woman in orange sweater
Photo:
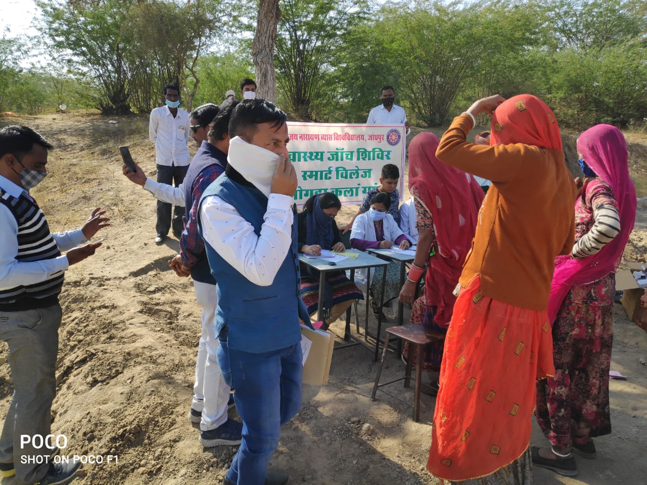
[[[501,103],[492,115],[490,145],[522,143],[562,149],[562,136],[553,111],[532,94],[518,94]]]

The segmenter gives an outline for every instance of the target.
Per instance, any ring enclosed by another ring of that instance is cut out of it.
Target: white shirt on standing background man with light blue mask
[[[148,137],[155,144],[155,162],[165,166],[189,164],[189,114],[177,109],[173,118],[168,106],[151,111]]]

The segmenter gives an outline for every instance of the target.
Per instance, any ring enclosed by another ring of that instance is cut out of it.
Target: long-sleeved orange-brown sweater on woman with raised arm
[[[441,162],[492,180],[479,211],[472,250],[459,279],[481,275],[483,295],[546,310],[554,259],[575,241],[575,182],[560,150],[514,144],[473,145],[467,114],[454,118],[436,151]]]

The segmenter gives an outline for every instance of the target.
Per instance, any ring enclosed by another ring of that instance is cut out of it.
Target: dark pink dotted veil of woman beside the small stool
[[[425,299],[426,305],[437,307],[435,323],[446,327],[484,195],[474,177],[436,158],[439,142],[433,133],[420,133],[411,140],[409,189],[432,214],[437,254],[429,259]]]

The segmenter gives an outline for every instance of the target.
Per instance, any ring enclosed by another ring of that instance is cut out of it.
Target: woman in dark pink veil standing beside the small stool
[[[453,292],[483,202],[483,189],[474,177],[439,162],[435,156],[438,144],[433,133],[420,133],[409,146],[409,191],[415,203],[419,239],[413,266],[400,291],[400,301],[413,302],[416,283],[427,266],[424,295],[415,301],[411,312],[411,323],[422,325],[437,338],[426,345],[422,358],[414,361],[430,373],[431,385],[422,386],[426,394],[438,391],[444,334],[456,301]],[[414,356],[405,352],[405,358]]]

